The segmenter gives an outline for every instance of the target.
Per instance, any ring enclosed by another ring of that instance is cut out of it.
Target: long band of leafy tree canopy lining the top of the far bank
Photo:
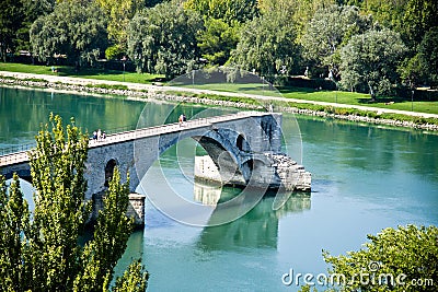
[[[430,32],[427,42],[435,44],[436,35],[431,32],[438,26],[437,3],[4,0],[0,4],[0,54],[4,61],[19,49],[31,48],[33,57],[43,61],[61,56],[70,65],[93,65],[105,51],[108,59],[128,57],[138,71],[163,73],[168,78],[201,66],[233,65],[272,77],[278,74],[279,66],[286,66],[288,74],[302,74],[309,67],[310,72],[316,73],[313,77],[325,78],[332,72],[341,81],[350,75],[341,66],[341,51],[349,40],[370,31],[389,30],[400,34],[407,48],[404,60],[394,70],[396,79],[401,79],[396,86],[436,86],[436,73],[429,70],[431,66],[427,66],[424,54],[430,49],[423,40]],[[388,78],[380,83],[388,81],[395,84],[394,79]],[[351,86],[350,80],[343,84],[360,92],[371,89]]]

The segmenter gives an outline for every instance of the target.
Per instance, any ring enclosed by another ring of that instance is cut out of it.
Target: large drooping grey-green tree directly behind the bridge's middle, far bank
[[[196,69],[199,59],[200,16],[175,2],[138,13],[128,30],[128,55],[137,70],[168,79]]]

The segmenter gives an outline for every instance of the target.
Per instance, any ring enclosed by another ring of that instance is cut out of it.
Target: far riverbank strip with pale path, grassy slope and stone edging
[[[276,112],[438,131],[438,115],[389,108],[8,71],[0,71],[0,83],[11,86],[123,95],[135,100],[160,100],[258,110],[272,107]]]

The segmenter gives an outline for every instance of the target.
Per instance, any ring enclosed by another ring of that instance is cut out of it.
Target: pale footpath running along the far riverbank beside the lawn
[[[148,92],[180,91],[180,92],[192,92],[192,93],[199,93],[199,94],[203,94],[203,93],[204,94],[219,94],[219,95],[223,95],[223,96],[250,97],[250,98],[255,98],[255,100],[260,100],[260,101],[307,103],[307,104],[315,104],[315,105],[324,105],[324,106],[333,106],[333,107],[357,108],[360,110],[371,110],[371,112],[378,112],[378,113],[402,114],[402,115],[425,117],[425,118],[438,118],[438,115],[428,114],[428,113],[408,112],[408,110],[362,106],[362,105],[326,103],[326,102],[287,98],[287,97],[279,97],[279,96],[269,96],[269,95],[246,94],[246,93],[240,93],[240,92],[210,91],[210,90],[198,90],[198,89],[177,87],[177,86],[157,86],[157,85],[141,84],[141,83],[118,82],[118,81],[110,81],[110,80],[96,80],[96,79],[84,79],[84,78],[72,78],[72,77],[59,77],[59,75],[49,75],[49,74],[32,74],[32,73],[20,73],[20,72],[9,72],[9,71],[0,71],[0,77],[1,75],[13,77],[16,79],[32,79],[32,78],[44,79],[50,83],[61,82],[61,83],[66,83],[66,84],[77,84],[77,85],[87,85],[87,84],[114,84],[114,85],[117,85],[117,84],[122,84],[122,85],[126,85],[129,90],[136,90],[136,91],[141,91],[141,90],[147,90]]]

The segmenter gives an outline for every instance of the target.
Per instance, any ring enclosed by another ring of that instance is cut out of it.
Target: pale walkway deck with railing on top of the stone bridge
[[[269,114],[262,113],[262,112],[240,112],[238,114],[192,119],[192,120],[187,120],[187,121],[183,122],[182,125],[180,125],[178,122],[174,122],[174,124],[166,124],[166,125],[162,125],[162,126],[136,129],[136,130],[131,130],[131,131],[124,131],[124,132],[108,135],[108,136],[106,136],[105,139],[101,139],[100,141],[90,139],[89,149],[107,145],[107,144],[115,144],[118,142],[125,142],[125,141],[135,140],[135,139],[139,139],[139,138],[145,138],[145,137],[160,136],[163,133],[201,128],[201,127],[210,126],[210,125],[212,125],[215,122],[219,122],[219,121],[229,121],[229,120],[235,120],[235,119],[254,117],[254,116],[264,116],[264,115],[269,115]],[[20,152],[10,153],[10,154],[0,156],[0,167],[18,164],[18,163],[22,163],[22,162],[28,162],[27,150],[23,150]]]

